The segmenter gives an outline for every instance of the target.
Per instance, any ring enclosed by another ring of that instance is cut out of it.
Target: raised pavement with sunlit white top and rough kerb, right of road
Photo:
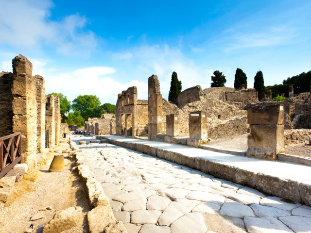
[[[102,135],[110,143],[311,206],[311,166],[237,156],[173,143]]]

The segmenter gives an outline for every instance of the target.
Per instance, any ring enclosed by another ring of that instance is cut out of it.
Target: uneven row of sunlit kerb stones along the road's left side
[[[69,144],[71,149],[76,149],[77,145],[74,141],[70,140]],[[105,195],[101,183],[95,179],[94,173],[84,164],[84,155],[81,150],[73,150],[70,153],[75,155],[76,166],[73,170],[77,170],[82,180],[86,183],[91,207],[91,210],[87,213],[89,232],[108,233],[113,229],[114,233],[126,233],[123,223],[118,221],[113,215],[109,198]],[[104,214],[104,216],[101,216],[101,214]]]

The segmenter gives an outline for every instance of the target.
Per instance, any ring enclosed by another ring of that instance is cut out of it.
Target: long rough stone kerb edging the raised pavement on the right
[[[311,183],[308,179],[301,182],[292,179],[284,179],[278,176],[278,174],[263,174],[260,173],[259,170],[254,171],[247,166],[236,166],[235,164],[239,161],[225,162],[217,158],[209,160],[195,155],[185,155],[170,149],[163,149],[163,147],[157,148],[156,146],[146,145],[141,140],[131,138],[127,138],[128,140],[124,140],[126,138],[113,139],[108,136],[101,136],[101,138],[117,146],[137,150],[180,165],[189,166],[190,168],[197,169],[206,174],[211,174],[234,183],[247,185],[284,199],[293,200],[295,202],[303,201],[305,204],[311,206]],[[148,141],[146,143],[150,144],[155,142]]]

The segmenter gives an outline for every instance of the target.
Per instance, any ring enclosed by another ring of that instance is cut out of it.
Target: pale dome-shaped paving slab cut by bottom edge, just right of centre
[[[201,213],[189,213],[174,221],[172,233],[206,233],[207,227]]]

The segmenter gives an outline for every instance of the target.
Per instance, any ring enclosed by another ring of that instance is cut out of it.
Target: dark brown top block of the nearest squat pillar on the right
[[[282,125],[284,122],[284,105],[258,104],[247,109],[247,124]]]

